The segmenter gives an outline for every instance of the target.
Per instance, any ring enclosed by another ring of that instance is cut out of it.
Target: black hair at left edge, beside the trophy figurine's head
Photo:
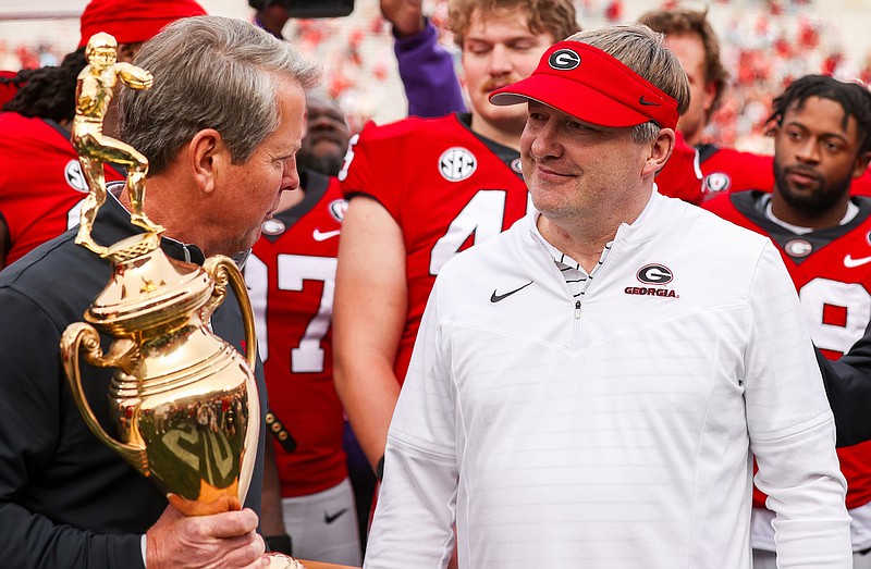
[[[68,53],[58,66],[22,70],[14,77],[0,78],[0,82],[19,87],[3,110],[59,123],[72,121],[75,116],[76,79],[87,64],[83,47]]]

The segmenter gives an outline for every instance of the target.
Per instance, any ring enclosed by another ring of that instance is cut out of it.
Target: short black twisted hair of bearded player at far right
[[[786,111],[793,106],[801,109],[810,97],[820,97],[841,104],[844,109],[844,128],[847,128],[850,116],[856,120],[861,143],[859,153],[871,150],[871,92],[859,83],[844,83],[827,75],[805,75],[794,81],[774,99],[769,122],[774,121],[782,125]]]

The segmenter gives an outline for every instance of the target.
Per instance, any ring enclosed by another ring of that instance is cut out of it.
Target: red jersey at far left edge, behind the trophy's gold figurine
[[[106,168],[106,181],[124,180]],[[87,183],[70,134],[51,121],[0,113],[0,215],[7,264],[78,223]]]

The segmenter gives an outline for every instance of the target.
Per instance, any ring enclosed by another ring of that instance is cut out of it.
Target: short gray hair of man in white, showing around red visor
[[[663,46],[665,36],[643,24],[623,24],[579,32],[569,36],[618,59],[624,65],[655,85],[677,101],[677,113],[689,107],[689,82],[677,57]],[[643,123],[633,128],[636,143],[649,143],[657,137],[655,123]]]

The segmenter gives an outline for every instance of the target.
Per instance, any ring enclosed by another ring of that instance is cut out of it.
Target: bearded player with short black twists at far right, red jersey
[[[771,121],[774,191],[722,195],[706,208],[771,237],[818,351],[836,360],[871,319],[871,199],[850,197],[851,182],[871,161],[871,94],[807,75],[774,100]],[[830,382],[830,397],[832,388]],[[841,429],[844,420],[835,412]],[[838,458],[848,484],[854,567],[871,568],[871,442],[838,448]],[[764,494],[756,491],[753,567],[776,567],[773,518]]]

